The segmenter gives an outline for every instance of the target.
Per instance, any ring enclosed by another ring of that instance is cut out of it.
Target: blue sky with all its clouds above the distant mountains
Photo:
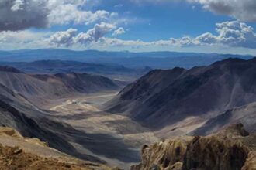
[[[0,50],[256,54],[255,0],[0,0]]]

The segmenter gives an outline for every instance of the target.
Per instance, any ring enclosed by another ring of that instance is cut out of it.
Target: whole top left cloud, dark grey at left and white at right
[[[108,21],[115,12],[85,11],[88,0],[1,0],[0,32],[46,28],[51,25],[92,24]]]

